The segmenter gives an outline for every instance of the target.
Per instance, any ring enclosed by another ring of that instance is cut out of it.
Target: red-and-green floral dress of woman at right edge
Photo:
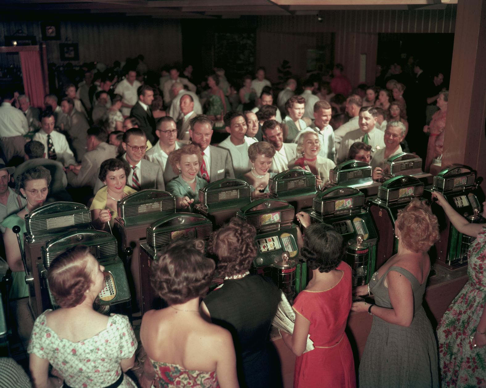
[[[442,387],[486,387],[486,347],[473,348],[486,305],[486,228],[469,247],[469,281],[452,301],[437,327]]]

